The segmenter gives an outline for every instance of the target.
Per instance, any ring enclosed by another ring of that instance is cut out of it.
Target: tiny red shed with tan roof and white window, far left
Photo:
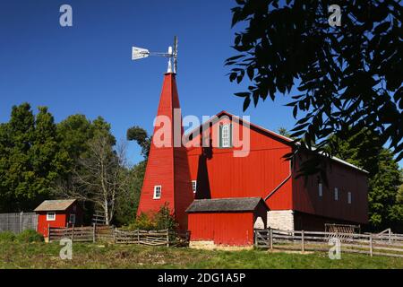
[[[83,213],[76,199],[45,200],[34,211],[38,214],[38,232],[44,237],[48,227],[82,224]]]

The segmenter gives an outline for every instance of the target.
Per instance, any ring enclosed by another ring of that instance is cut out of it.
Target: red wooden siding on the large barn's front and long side
[[[221,112],[219,116],[231,117],[227,112]],[[226,122],[226,118],[220,119],[210,127],[213,143],[218,137],[218,126]],[[240,137],[242,140],[242,133]],[[233,151],[239,148],[190,147],[200,142],[200,138],[201,135],[196,135],[188,143],[191,178],[197,180],[196,198],[265,198],[289,175],[289,161],[283,156],[292,151],[292,146],[257,126],[251,124],[251,151],[246,157],[234,157]],[[305,186],[304,178],[296,179],[298,164],[296,162],[292,170],[292,177],[266,201],[270,210],[296,210],[340,222],[368,222],[367,175],[363,171],[330,161],[329,187],[322,184],[323,196],[320,197],[318,176],[310,176]],[[338,201],[334,200],[334,187],[339,188]],[[347,203],[348,192],[352,194],[351,204]]]

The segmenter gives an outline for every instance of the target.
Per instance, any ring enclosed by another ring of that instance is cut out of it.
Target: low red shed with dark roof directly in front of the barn
[[[268,210],[261,197],[194,200],[186,210],[191,243],[253,245],[253,226],[267,226]]]

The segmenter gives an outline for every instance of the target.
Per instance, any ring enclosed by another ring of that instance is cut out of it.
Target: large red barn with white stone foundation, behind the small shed
[[[306,181],[296,178],[300,161],[308,153],[300,152],[296,162],[286,161],[283,156],[296,148],[291,139],[226,111],[212,118],[193,131],[188,144],[201,142],[203,133],[218,142],[188,149],[195,198],[262,197],[270,209],[268,226],[285,230],[323,230],[324,223],[368,222],[367,171],[323,157],[328,161],[327,185],[319,175]],[[223,126],[233,136],[227,146],[222,146]],[[249,149],[242,152],[234,135],[239,133],[242,139],[245,132]],[[244,156],[234,156],[235,151]]]

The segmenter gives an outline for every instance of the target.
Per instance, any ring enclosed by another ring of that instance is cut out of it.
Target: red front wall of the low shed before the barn
[[[189,213],[191,240],[217,245],[253,244],[253,213]],[[236,223],[235,223],[236,222]]]

